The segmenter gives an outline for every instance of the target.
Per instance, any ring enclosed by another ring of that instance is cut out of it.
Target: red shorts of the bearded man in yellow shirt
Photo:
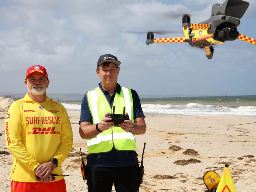
[[[11,181],[11,192],[67,192],[65,180],[42,182]]]

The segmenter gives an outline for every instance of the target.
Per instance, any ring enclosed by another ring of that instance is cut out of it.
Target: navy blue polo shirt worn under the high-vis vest
[[[116,93],[120,94],[121,86],[117,84],[116,90],[114,94],[111,96],[107,90],[104,90],[99,83],[99,88],[105,94],[108,103],[110,104],[111,108],[114,103],[114,97]],[[133,118],[136,119],[138,117],[145,117],[141,108],[140,98],[138,93],[131,89],[132,97],[133,97]],[[90,112],[88,101],[86,94],[82,100],[81,104],[81,116],[79,124],[83,121],[87,121],[92,123],[92,114]],[[114,147],[105,153],[97,153],[97,154],[89,154],[87,156],[87,165],[88,167],[129,167],[133,166],[138,163],[136,151],[118,151]]]

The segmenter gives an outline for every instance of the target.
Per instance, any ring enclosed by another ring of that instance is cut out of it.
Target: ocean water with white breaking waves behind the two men
[[[256,95],[140,98],[145,113],[189,116],[256,117]],[[66,109],[80,110],[81,101],[62,101]]]

